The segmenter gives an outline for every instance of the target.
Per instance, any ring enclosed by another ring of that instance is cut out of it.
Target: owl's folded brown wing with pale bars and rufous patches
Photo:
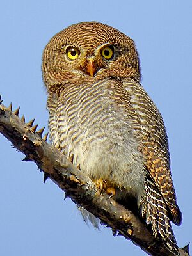
[[[140,124],[143,145],[141,150],[146,159],[147,170],[168,205],[173,223],[180,225],[182,214],[177,206],[170,172],[168,138],[163,118],[140,83],[125,79],[124,88],[130,95],[132,109]]]

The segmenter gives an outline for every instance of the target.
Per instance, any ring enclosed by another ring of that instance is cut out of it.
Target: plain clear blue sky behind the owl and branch
[[[191,236],[192,1],[2,1],[1,82],[4,104],[26,120],[46,125],[42,51],[51,37],[76,22],[109,24],[136,42],[145,90],[163,115],[182,226],[179,246]],[[74,203],[0,134],[0,255],[146,255],[123,237],[86,226]]]

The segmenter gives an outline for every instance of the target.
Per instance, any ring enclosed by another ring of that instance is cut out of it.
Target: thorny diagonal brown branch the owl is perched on
[[[34,120],[25,123],[24,116],[19,118],[19,109],[12,112],[12,106],[6,108],[0,101],[0,132],[10,140],[15,148],[24,153],[25,161],[34,161],[40,171],[56,183],[77,205],[97,216],[102,223],[111,227],[113,234],[124,236],[149,255],[172,256],[160,239],[156,239],[147,225],[137,216],[109,198],[106,193],[100,195],[97,186],[84,176],[67,157],[57,148],[49,145],[47,135],[42,138],[44,129],[36,131]],[[189,255],[179,249],[180,256]]]

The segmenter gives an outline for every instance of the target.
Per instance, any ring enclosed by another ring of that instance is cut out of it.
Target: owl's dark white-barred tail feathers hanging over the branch
[[[147,221],[152,225],[154,236],[161,237],[164,244],[174,255],[179,255],[177,242],[173,234],[169,212],[161,193],[159,193],[150,177],[145,181],[145,191],[147,195]]]

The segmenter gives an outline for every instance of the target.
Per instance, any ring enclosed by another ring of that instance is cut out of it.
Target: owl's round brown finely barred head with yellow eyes
[[[106,77],[140,80],[133,40],[99,22],[74,24],[53,36],[44,49],[42,70],[47,87]]]

